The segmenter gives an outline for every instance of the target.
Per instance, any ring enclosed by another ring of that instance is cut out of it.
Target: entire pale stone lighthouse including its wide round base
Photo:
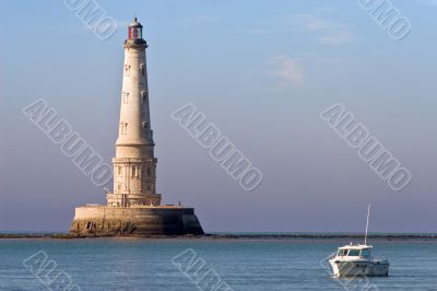
[[[106,205],[75,208],[72,236],[203,234],[193,208],[180,203],[163,206],[161,194],[156,193],[157,159],[150,118],[146,48],[143,26],[135,18],[123,43],[114,190],[107,193]]]

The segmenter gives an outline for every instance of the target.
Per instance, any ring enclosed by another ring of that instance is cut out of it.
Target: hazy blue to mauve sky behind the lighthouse
[[[402,39],[358,0],[93,1],[117,25],[107,39],[72,2],[0,3],[0,231],[68,231],[74,207],[105,202],[22,109],[44,98],[110,163],[137,16],[164,203],[194,207],[206,232],[362,232],[369,202],[370,232],[437,232],[436,1],[388,2],[411,23]],[[172,118],[188,103],[262,172],[259,187]],[[320,118],[334,104],[411,172],[406,188]]]

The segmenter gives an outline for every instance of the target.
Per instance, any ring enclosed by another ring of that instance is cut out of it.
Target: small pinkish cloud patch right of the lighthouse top
[[[267,73],[279,78],[280,88],[293,84],[300,86],[305,83],[304,69],[297,59],[287,56],[270,57],[264,66]]]

